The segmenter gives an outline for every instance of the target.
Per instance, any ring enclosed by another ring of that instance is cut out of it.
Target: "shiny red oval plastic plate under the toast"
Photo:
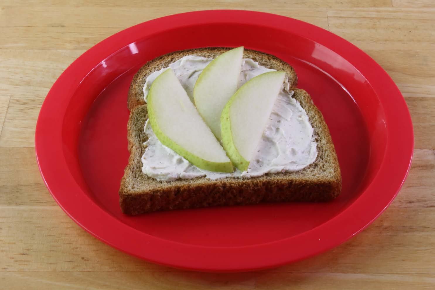
[[[174,50],[245,46],[290,63],[325,116],[343,174],[329,203],[279,203],[121,213],[127,90],[148,60]],[[274,14],[211,10],[117,33],[81,55],[41,108],[35,146],[43,179],[81,227],[111,246],[193,270],[263,269],[321,253],[371,223],[408,173],[413,130],[405,101],[367,54],[311,24]]]

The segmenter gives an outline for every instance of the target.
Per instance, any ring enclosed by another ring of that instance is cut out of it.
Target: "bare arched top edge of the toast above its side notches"
[[[231,47],[204,47],[189,50],[179,50],[164,54],[161,57],[150,60],[143,67],[141,67],[139,71],[137,71],[137,73],[133,77],[133,80],[131,81],[127,98],[128,110],[133,110],[134,107],[138,105],[143,105],[145,103],[143,90],[145,80],[147,80],[147,77],[154,71],[169,67],[171,63],[174,63],[181,57],[187,55],[216,58],[218,55],[230,49]],[[290,84],[290,87],[296,87],[296,84],[298,83],[298,77],[296,76],[293,67],[288,65],[288,63],[284,62],[283,60],[280,60],[278,57],[256,50],[249,50],[246,48],[244,49],[243,57],[251,58],[263,67],[285,71],[288,77],[288,83]]]

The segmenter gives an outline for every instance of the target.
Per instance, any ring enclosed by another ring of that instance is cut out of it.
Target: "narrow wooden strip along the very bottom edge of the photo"
[[[173,273],[154,272],[152,279],[141,272],[4,272],[0,281],[9,289],[57,290],[129,290],[129,289],[433,289],[434,278],[428,274],[350,274],[350,273]],[[35,284],[35,282],[37,284]],[[377,288],[378,287],[378,288]]]

